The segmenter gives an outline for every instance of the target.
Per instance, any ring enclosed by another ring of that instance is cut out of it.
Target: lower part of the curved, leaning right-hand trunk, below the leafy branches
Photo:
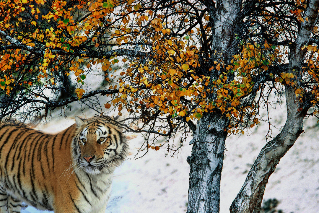
[[[300,105],[294,103],[294,89],[286,87],[287,120],[282,131],[269,141],[260,151],[251,167],[244,185],[233,201],[231,213],[258,213],[264,190],[270,175],[275,171],[279,160],[293,146],[303,132],[302,121],[307,109],[299,110]]]

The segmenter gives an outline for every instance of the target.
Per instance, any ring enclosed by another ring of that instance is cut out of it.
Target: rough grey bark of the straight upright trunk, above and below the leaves
[[[222,60],[229,63],[233,51],[237,51],[237,48],[231,47],[237,42],[234,39],[235,26],[242,22],[240,16],[242,1],[217,0],[216,4],[213,1],[203,1],[203,3],[209,10],[211,26],[214,29],[210,38],[211,50],[217,51],[222,55]],[[208,70],[204,72],[209,73]],[[219,74],[209,75],[219,76]],[[197,123],[191,142],[194,143],[192,154],[187,160],[190,165],[187,213],[219,212],[220,177],[227,136],[225,130],[228,125],[229,119],[218,112],[203,114]]]

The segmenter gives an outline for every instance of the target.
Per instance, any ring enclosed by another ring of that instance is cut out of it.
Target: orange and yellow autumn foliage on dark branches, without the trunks
[[[0,117],[29,105],[46,116],[102,94],[112,98],[105,108],[116,107],[119,114],[125,109],[143,121],[141,131],[150,125],[152,132],[171,136],[186,123],[194,128],[192,121],[205,112],[229,117],[229,133],[253,127],[265,88],[291,85],[297,98],[316,107],[317,47],[304,46],[305,66],[296,70],[302,78],[285,67],[296,33],[291,25],[308,21],[306,2],[274,1],[272,9],[264,2],[258,13],[248,11],[238,26],[242,33],[233,38],[236,51],[225,60],[212,46],[212,17],[203,1],[1,0]],[[277,15],[280,5],[288,18]],[[93,73],[101,75],[103,89],[86,84]]]

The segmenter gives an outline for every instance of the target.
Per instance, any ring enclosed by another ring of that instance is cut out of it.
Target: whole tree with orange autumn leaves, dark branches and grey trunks
[[[219,212],[226,136],[258,125],[269,93],[285,92],[287,121],[231,212],[259,212],[269,176],[318,112],[318,0],[1,0],[0,11],[0,119],[41,120],[76,101],[125,108],[146,152],[176,151],[175,133],[182,142],[191,131],[188,213]]]

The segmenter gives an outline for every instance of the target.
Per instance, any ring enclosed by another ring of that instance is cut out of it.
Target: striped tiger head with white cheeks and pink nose
[[[120,128],[106,118],[75,117],[77,131],[72,142],[73,161],[88,174],[110,173],[128,153],[128,144]]]

